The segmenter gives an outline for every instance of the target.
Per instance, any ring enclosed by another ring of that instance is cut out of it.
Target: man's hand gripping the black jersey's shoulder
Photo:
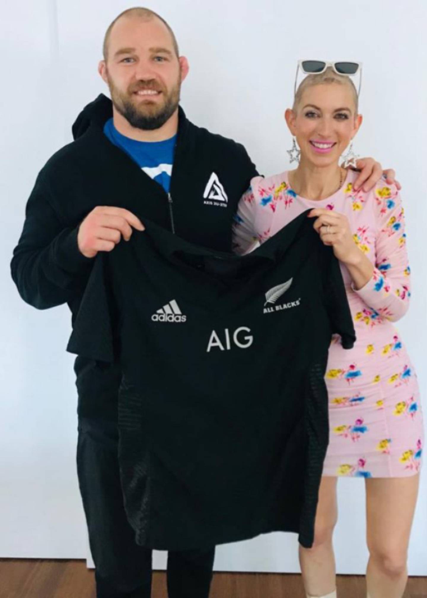
[[[99,251],[111,251],[121,237],[130,239],[132,227],[145,230],[144,225],[132,212],[124,208],[97,206],[81,223],[77,235],[79,251],[93,258]]]

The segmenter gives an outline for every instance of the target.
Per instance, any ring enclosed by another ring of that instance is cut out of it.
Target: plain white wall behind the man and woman
[[[97,74],[102,38],[131,4],[121,0],[0,0],[0,557],[88,557],[76,467],[76,393],[67,307],[38,312],[20,300],[9,264],[24,206],[45,161],[72,140],[82,106],[105,84]],[[176,32],[191,71],[182,105],[189,118],[247,148],[260,172],[287,167],[291,105],[299,58],[364,63],[355,142],[361,155],[395,167],[403,184],[411,309],[398,328],[419,374],[427,420],[427,2],[360,0],[158,0],[149,8]],[[427,575],[427,483],[411,536],[411,575]],[[404,507],[403,507],[404,508]],[[363,480],[340,480],[337,569],[363,573]],[[90,563],[90,560],[89,560]],[[162,568],[165,554],[156,553]],[[216,570],[299,570],[296,538],[262,536],[217,549]]]

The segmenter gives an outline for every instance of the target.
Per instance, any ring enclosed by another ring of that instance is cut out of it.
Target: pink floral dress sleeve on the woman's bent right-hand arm
[[[406,251],[404,209],[397,187],[375,190],[377,236],[376,260],[370,280],[361,289],[352,289],[367,306],[392,322],[402,318],[409,306],[410,267]]]

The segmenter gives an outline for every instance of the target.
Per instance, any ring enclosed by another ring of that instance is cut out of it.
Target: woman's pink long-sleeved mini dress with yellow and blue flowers
[[[356,290],[340,264],[357,341],[349,350],[337,335],[331,342],[325,378],[330,442],[323,475],[405,477],[421,466],[423,422],[417,376],[393,325],[410,299],[404,210],[394,185],[382,179],[372,191],[355,193],[356,176],[350,170],[343,187],[320,201],[297,196],[287,172],[255,177],[235,215],[234,251],[251,251],[309,208],[347,216],[374,273]]]

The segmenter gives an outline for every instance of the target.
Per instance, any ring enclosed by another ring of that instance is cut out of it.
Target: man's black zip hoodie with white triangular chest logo
[[[179,108],[170,194],[103,132],[112,102],[100,94],[73,124],[74,141],[39,172],[11,261],[19,294],[37,309],[67,303],[75,321],[93,260],[77,245],[96,206],[126,208],[192,243],[231,251],[232,219],[256,167],[244,147],[196,127]],[[219,197],[219,200],[215,198]],[[79,416],[116,421],[121,372],[77,357]]]

